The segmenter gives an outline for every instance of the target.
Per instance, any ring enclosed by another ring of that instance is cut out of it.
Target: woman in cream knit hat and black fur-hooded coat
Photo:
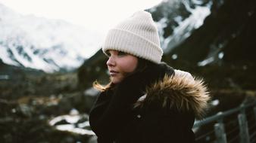
[[[89,114],[101,143],[195,142],[192,126],[207,108],[203,81],[161,62],[151,14],[138,11],[108,32],[103,52],[111,82]]]

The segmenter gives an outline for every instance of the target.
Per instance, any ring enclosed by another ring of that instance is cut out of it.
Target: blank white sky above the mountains
[[[134,12],[158,5],[162,0],[0,0],[19,14],[61,19],[105,35]]]

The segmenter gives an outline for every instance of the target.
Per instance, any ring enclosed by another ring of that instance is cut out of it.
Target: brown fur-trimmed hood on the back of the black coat
[[[190,74],[178,74],[177,71],[179,70],[175,70],[174,75],[165,75],[161,81],[148,86],[145,96],[139,98],[134,106],[143,107],[150,105],[152,101],[158,101],[163,108],[193,111],[195,117],[201,119],[208,108],[208,100],[211,99],[204,81],[194,79]]]

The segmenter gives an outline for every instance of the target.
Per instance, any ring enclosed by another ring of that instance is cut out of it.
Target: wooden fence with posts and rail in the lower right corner
[[[252,111],[252,115],[248,114]],[[230,115],[236,114],[235,120],[226,120]],[[251,120],[247,120],[250,116]],[[214,124],[213,124],[214,123]],[[248,123],[250,126],[248,128]],[[227,126],[232,124],[232,129],[226,130]],[[212,126],[213,130],[204,133],[196,138],[196,140],[205,139],[205,142],[209,140],[210,136],[214,136],[214,141],[216,143],[226,143],[226,142],[240,142],[240,143],[250,143],[256,141],[256,102],[247,105],[240,105],[237,108],[230,109],[229,111],[219,112],[214,116],[207,117],[204,120],[196,121],[193,129],[198,129],[201,126]],[[238,135],[231,135],[237,132]],[[230,136],[231,138],[227,138]],[[200,142],[200,141],[198,141]]]

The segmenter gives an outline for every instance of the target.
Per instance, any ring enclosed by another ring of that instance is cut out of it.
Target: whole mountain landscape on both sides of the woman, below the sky
[[[256,1],[165,0],[145,11],[158,25],[162,61],[208,84],[207,116],[254,102]],[[0,141],[95,142],[92,82],[108,83],[97,36],[0,4]]]

